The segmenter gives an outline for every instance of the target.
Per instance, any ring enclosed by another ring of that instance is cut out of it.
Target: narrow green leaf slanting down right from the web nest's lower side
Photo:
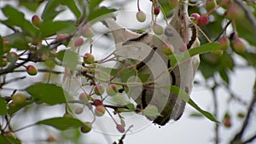
[[[189,97],[189,95],[183,89],[180,89],[174,85],[169,86],[168,89],[171,89],[171,91],[175,95],[181,97],[183,101],[188,102],[191,107],[194,107],[198,112],[201,112],[201,114],[204,115],[206,118],[210,119],[215,123],[219,123],[218,120],[212,115],[212,113],[204,111],[200,107],[198,107],[196,103]]]

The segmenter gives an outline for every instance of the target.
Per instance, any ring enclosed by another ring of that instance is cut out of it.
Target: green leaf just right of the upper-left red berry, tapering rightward
[[[40,32],[42,37],[49,37],[70,26],[74,26],[73,21],[44,20],[40,25]]]

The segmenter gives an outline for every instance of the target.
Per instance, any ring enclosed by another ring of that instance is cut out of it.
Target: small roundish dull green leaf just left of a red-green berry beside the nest
[[[71,50],[66,50],[65,55],[63,56],[62,65],[72,70],[75,70],[78,64],[79,57],[77,53]]]

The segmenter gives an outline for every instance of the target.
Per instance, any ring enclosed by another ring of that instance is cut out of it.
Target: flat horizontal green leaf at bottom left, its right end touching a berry
[[[36,124],[44,124],[55,127],[58,130],[79,128],[85,124],[76,118],[49,118],[38,121]]]

